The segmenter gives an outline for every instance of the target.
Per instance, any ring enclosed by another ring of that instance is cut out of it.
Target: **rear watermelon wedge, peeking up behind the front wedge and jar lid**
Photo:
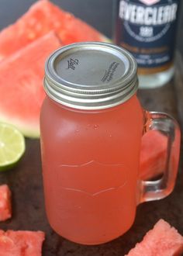
[[[71,13],[64,12],[47,0],[40,0],[0,33],[0,61],[50,30],[57,33],[63,45],[80,41],[109,41]]]

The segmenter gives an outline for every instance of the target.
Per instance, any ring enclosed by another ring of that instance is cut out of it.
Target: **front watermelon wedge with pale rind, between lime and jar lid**
[[[50,32],[0,63],[0,120],[25,136],[39,137],[44,63],[58,47],[60,41]]]

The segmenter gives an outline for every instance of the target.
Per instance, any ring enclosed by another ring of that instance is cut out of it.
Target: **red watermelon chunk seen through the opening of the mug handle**
[[[142,137],[140,151],[140,179],[150,180],[164,171],[167,156],[167,137],[150,130]]]

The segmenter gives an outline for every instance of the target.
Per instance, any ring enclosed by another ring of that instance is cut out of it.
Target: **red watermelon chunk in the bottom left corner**
[[[41,256],[42,231],[0,230],[0,256]]]

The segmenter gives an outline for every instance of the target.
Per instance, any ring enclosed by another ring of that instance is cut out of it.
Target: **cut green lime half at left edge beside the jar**
[[[6,171],[18,163],[25,152],[25,139],[16,127],[0,123],[0,171]]]

